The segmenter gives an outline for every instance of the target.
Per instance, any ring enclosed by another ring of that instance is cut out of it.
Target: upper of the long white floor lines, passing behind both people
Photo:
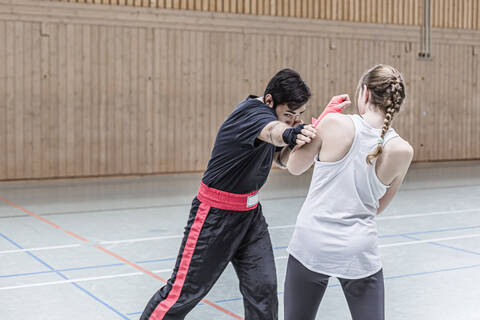
[[[437,212],[425,212],[425,213],[414,213],[414,214],[402,214],[402,215],[392,215],[392,216],[379,216],[376,217],[376,220],[397,220],[397,219],[409,219],[409,218],[418,218],[418,217],[427,217],[427,216],[436,216],[436,215],[447,215],[447,214],[460,214],[460,213],[480,213],[480,208],[477,209],[464,209],[464,210],[451,210],[451,211],[437,211]],[[270,230],[278,229],[290,229],[294,228],[294,224],[283,225],[283,226],[273,226],[269,227]],[[101,241],[100,244],[118,244],[118,243],[135,243],[135,242],[144,242],[144,241],[156,241],[156,240],[166,240],[166,239],[181,239],[183,235],[170,235],[170,236],[160,236],[160,237],[148,237],[148,238],[136,238],[136,239],[124,239],[124,240],[109,240]],[[37,251],[37,250],[56,250],[64,248],[73,248],[81,247],[82,244],[74,245],[65,245],[65,246],[52,246],[52,247],[41,247],[41,248],[30,248],[30,249],[15,249],[15,250],[5,250],[0,251],[0,254],[16,253],[16,252],[25,252],[25,251]]]

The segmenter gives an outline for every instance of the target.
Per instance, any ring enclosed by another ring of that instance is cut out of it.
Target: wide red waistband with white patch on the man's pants
[[[248,194],[229,193],[207,187],[203,182],[197,195],[198,200],[222,210],[248,211],[258,206],[258,190]]]

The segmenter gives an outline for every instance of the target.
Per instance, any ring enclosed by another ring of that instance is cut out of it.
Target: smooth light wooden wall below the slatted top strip
[[[415,160],[480,158],[478,31],[434,28],[424,61],[415,27],[85,7],[0,0],[1,180],[201,171],[225,117],[284,67],[312,89],[308,121],[397,66]]]

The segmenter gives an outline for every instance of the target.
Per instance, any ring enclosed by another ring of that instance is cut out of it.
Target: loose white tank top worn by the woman
[[[336,162],[315,157],[310,189],[297,217],[287,251],[306,268],[332,277],[359,279],[382,268],[375,216],[387,191],[366,162],[381,129],[359,115],[350,116],[355,137],[348,153]],[[384,144],[398,136],[392,128]]]

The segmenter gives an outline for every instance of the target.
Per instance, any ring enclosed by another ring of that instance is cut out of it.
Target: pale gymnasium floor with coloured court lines
[[[170,275],[200,177],[0,184],[0,319],[138,319]],[[285,247],[309,180],[275,170],[261,192],[280,319]],[[480,319],[480,162],[412,166],[377,221],[386,319]],[[233,268],[206,299],[187,319],[243,316]],[[336,279],[317,319],[350,319]]]

